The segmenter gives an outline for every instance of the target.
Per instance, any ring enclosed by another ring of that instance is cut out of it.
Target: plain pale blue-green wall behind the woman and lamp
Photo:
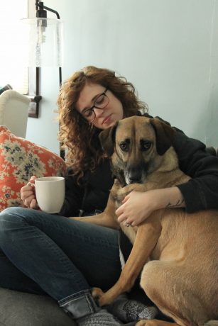
[[[133,82],[153,116],[218,146],[218,0],[46,0],[65,29],[63,79],[92,64]],[[52,54],[51,54],[52,55]],[[58,152],[58,69],[43,69],[27,137]]]

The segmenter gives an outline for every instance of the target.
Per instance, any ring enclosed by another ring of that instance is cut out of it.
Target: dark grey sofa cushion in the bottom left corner
[[[0,325],[74,326],[52,298],[0,288]]]

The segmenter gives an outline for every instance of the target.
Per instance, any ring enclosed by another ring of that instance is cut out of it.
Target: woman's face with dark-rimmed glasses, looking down
[[[124,117],[121,101],[116,99],[109,89],[105,90],[105,87],[99,84],[86,84],[76,103],[77,111],[99,129],[107,129]],[[102,94],[104,95],[101,96]],[[96,108],[93,107],[94,105],[104,106],[104,108]],[[95,113],[94,120],[92,120],[93,113],[89,110],[90,108],[93,108]]]

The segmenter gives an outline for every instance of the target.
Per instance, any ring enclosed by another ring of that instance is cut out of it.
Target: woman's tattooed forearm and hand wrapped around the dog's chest
[[[185,207],[185,201],[182,193],[175,186],[146,192],[131,191],[115,213],[119,223],[125,222],[134,226],[146,220],[154,210],[181,207]]]

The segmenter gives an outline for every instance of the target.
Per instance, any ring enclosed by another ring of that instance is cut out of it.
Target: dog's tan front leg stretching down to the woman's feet
[[[151,223],[150,218],[149,221],[147,220],[146,223],[138,226],[133,249],[119,280],[106,293],[102,294],[98,290],[92,292],[93,296],[98,297],[99,305],[107,305],[121,293],[131,289],[144,264],[146,264],[151,251],[156,246],[160,232],[160,223],[157,221]]]

